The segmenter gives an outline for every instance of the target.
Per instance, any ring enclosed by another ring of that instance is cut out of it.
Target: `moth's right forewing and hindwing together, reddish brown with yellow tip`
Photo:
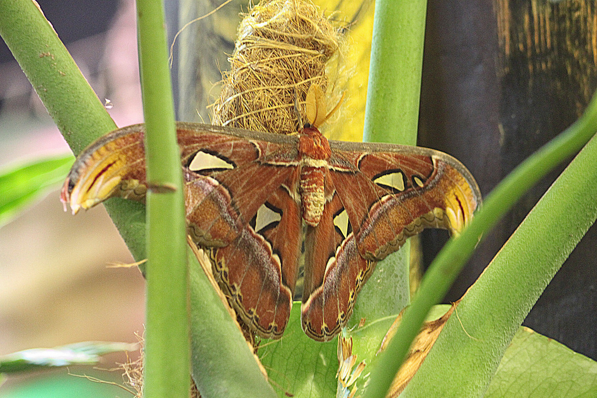
[[[425,227],[459,232],[481,202],[470,172],[445,153],[338,141],[330,147],[327,183],[335,193],[307,231],[301,307],[303,330],[319,341],[346,325],[378,260]]]

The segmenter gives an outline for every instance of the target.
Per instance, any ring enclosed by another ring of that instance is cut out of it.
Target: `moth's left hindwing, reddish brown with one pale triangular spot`
[[[220,287],[241,319],[263,338],[279,338],[286,328],[301,240],[300,206],[279,187],[232,243],[211,249]]]

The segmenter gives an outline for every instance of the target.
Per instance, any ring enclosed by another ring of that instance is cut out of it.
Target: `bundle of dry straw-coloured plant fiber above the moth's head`
[[[341,33],[310,1],[266,0],[254,5],[238,28],[235,51],[229,58],[231,69],[222,73],[213,124],[279,134],[297,132],[302,126],[295,103],[304,115],[312,84],[324,93],[333,91],[329,90],[328,61],[341,45]]]

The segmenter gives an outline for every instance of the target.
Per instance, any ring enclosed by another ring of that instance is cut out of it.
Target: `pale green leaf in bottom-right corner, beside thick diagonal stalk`
[[[595,396],[597,362],[522,327],[504,353],[484,397]]]

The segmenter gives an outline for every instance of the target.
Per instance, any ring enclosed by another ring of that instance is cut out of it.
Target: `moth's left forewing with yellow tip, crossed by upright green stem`
[[[263,167],[267,161],[296,158],[293,137],[274,136],[272,141],[269,134],[270,141],[265,141],[258,132],[181,122],[177,135],[189,232],[200,245],[232,242],[266,197],[293,172],[290,163]],[[73,214],[112,196],[144,201],[143,137],[142,124],[121,128],[78,156],[61,193]]]

